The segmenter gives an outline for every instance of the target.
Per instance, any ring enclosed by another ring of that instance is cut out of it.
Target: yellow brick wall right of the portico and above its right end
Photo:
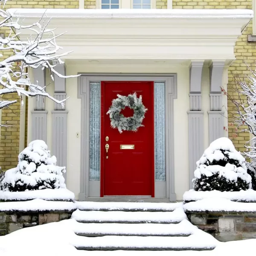
[[[252,0],[173,0],[173,9],[252,9]],[[238,74],[244,77],[250,74],[247,65],[254,70],[256,61],[256,43],[248,43],[247,35],[252,34],[252,22],[244,29],[242,35],[238,38],[235,46],[236,61],[233,62],[228,71],[228,94],[234,99],[238,96],[233,92],[235,86],[234,76]],[[228,102],[229,128],[228,134],[233,141],[236,149],[245,151],[244,144],[249,140],[248,133],[241,133],[241,129],[237,130],[233,122],[233,114],[236,113],[236,107]],[[240,132],[240,133],[239,133]]]

